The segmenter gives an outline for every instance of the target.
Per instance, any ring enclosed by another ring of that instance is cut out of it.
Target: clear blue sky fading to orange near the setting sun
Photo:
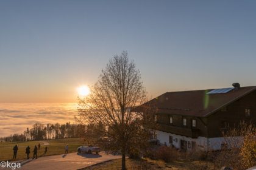
[[[0,0],[0,103],[76,102],[127,50],[149,98],[256,86],[256,1]]]

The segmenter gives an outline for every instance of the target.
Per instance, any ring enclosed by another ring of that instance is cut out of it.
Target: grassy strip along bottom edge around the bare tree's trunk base
[[[160,169],[160,170],[202,170],[202,169],[213,169],[213,165],[207,161],[174,161],[171,163],[165,163],[162,160],[132,160],[126,159],[127,170],[134,169]],[[116,170],[121,169],[121,159],[107,161],[105,163],[94,165],[83,170]]]

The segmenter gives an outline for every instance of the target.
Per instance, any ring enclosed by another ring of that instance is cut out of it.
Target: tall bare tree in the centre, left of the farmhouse
[[[152,107],[147,101],[140,71],[127,57],[115,55],[102,70],[99,80],[86,98],[79,99],[77,120],[85,124],[101,124],[98,144],[105,149],[121,151],[122,169],[126,169],[127,153],[140,152],[154,126]],[[135,107],[141,106],[134,111]],[[147,114],[143,114],[147,113]]]

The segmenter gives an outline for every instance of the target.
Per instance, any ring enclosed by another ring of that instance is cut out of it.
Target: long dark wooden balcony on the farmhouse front
[[[199,137],[200,132],[199,129],[172,126],[170,124],[157,124],[157,130],[191,138]]]

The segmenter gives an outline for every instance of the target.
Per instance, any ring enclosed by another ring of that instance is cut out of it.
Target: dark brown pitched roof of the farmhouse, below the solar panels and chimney
[[[210,90],[166,92],[149,101],[155,103],[158,113],[206,117],[227,104],[254,91],[256,86],[233,89],[226,94],[207,94]]]

